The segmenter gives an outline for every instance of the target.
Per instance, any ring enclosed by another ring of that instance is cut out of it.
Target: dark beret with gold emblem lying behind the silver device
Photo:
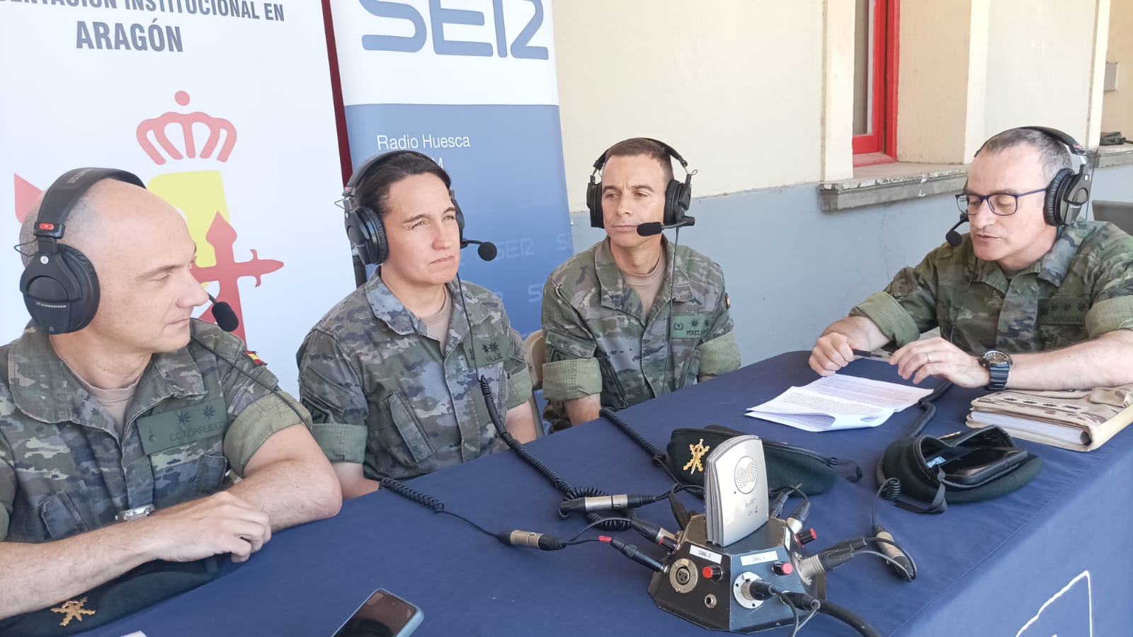
[[[743,432],[718,425],[705,428],[674,430],[665,447],[665,464],[670,472],[684,484],[704,486],[704,461],[721,442]],[[767,486],[769,491],[801,484],[804,493],[826,493],[840,472],[849,472],[846,479],[861,479],[861,468],[853,460],[841,460],[816,453],[809,449],[763,439],[764,458],[767,462]]]

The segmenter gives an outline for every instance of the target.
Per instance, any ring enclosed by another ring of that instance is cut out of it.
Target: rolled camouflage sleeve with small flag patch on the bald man
[[[308,416],[293,398],[280,391],[275,374],[247,353],[244,341],[219,330],[210,337],[216,354],[230,363],[218,366],[228,413],[235,418],[224,433],[224,456],[242,476],[244,467],[272,434],[306,424]]]

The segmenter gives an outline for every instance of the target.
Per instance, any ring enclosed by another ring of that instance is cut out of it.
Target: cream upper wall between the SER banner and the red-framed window
[[[634,136],[680,151],[701,171],[693,181],[700,196],[817,181],[823,7],[819,0],[714,0],[712,10],[687,0],[555,2],[571,210],[585,206],[594,160]]]

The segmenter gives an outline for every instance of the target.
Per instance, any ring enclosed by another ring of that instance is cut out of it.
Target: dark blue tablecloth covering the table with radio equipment
[[[810,547],[866,535],[877,486],[874,466],[919,411],[906,409],[875,428],[819,434],[743,416],[789,385],[815,380],[806,360],[807,353],[784,354],[621,415],[662,449],[676,427],[719,424],[852,459],[866,477],[857,484],[840,479],[812,499],[807,526],[818,540]],[[855,362],[845,373],[900,382],[893,367],[875,360]],[[954,388],[926,433],[963,428],[978,393]],[[1023,442],[1046,467],[998,500],[951,506],[939,516],[883,503],[879,521],[917,559],[918,579],[903,583],[880,560],[861,557],[829,575],[828,597],[884,635],[1128,635],[1131,436],[1125,431],[1091,453]],[[528,449],[576,486],[607,493],[662,493],[670,486],[636,443],[602,419]],[[570,537],[583,526],[578,517],[559,519],[559,493],[511,452],[425,476],[412,486],[492,530]],[[675,529],[664,503],[640,515]],[[632,532],[622,535],[647,544]],[[347,502],[334,519],[279,533],[247,563],[225,568],[206,586],[88,635],[329,636],[378,587],[424,609],[419,635],[705,632],[658,610],[646,591],[650,571],[606,545],[554,553],[508,547],[390,492]],[[802,635],[855,632],[819,615]]]

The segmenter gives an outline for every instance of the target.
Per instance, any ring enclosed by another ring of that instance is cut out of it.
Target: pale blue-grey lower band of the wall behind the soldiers
[[[1098,169],[1093,196],[1133,201],[1133,165]],[[828,324],[943,244],[955,210],[939,195],[826,213],[813,185],[765,188],[697,198],[697,224],[681,243],[724,267],[747,364],[810,349]],[[572,222],[576,252],[605,236],[582,214]]]

